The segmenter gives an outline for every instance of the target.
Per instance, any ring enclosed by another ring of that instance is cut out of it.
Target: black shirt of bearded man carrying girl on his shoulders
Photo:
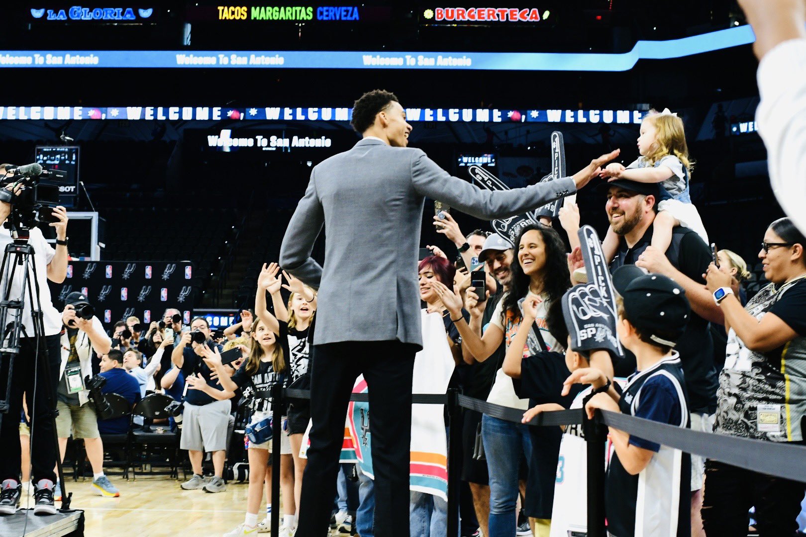
[[[619,244],[616,258],[610,265],[615,271],[622,265],[634,265],[638,256],[650,246],[654,227],[650,225],[644,236],[632,248],[624,240]],[[667,258],[678,271],[697,283],[705,283],[702,275],[713,261],[711,249],[692,229],[675,227]],[[686,388],[692,412],[708,412],[717,410],[717,368],[713,363],[713,341],[710,325],[707,320],[692,311],[686,331],[677,341],[675,350],[680,353],[683,362],[683,373],[686,376]],[[625,359],[614,364],[617,377],[626,377],[636,368],[635,357],[625,349]]]

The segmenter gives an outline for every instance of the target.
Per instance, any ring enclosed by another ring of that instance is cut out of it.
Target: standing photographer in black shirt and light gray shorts
[[[168,312],[166,312],[168,313]],[[180,327],[181,328],[181,327]],[[218,349],[221,345],[210,339],[210,326],[203,317],[196,317],[190,323],[190,332],[176,338],[178,343],[173,349],[171,360],[180,368],[186,378],[200,374],[208,385],[222,390],[221,384],[210,378],[210,368],[202,360],[205,345],[210,349]],[[230,423],[231,403],[217,400],[202,390],[187,390],[185,393],[185,411],[182,413],[182,436],[179,447],[188,450],[190,464],[193,466],[193,477],[182,483],[185,490],[205,489],[206,492],[222,492],[226,485],[222,479],[224,460],[226,459],[227,428]],[[206,481],[202,474],[202,458],[204,452],[213,453],[215,476]]]

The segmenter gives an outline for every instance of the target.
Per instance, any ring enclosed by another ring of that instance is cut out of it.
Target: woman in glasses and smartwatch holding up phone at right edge
[[[715,432],[804,444],[806,417],[806,238],[789,218],[774,221],[758,252],[770,282],[742,307],[732,276],[713,263],[708,290],[725,314],[728,345],[719,378]],[[705,469],[708,535],[796,535],[804,484],[717,461]]]

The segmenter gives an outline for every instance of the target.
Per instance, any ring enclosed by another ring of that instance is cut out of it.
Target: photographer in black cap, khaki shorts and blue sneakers
[[[89,390],[84,384],[84,378],[93,376],[91,351],[94,350],[99,356],[106,354],[112,349],[112,342],[104,332],[101,321],[89,311],[92,307],[85,295],[70,293],[64,304],[64,312],[61,312],[64,322],[61,366],[56,390],[59,456],[64,461],[64,450],[71,434],[73,439],[83,438],[87,459],[93,467],[93,488],[102,496],[117,498],[120,496],[118,489],[103,473],[103,443],[98,432],[98,417],[94,405],[89,403]],[[55,496],[56,500],[60,500],[59,484],[56,484]]]

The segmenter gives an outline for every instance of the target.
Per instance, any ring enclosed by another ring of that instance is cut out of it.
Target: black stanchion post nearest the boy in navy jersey
[[[585,400],[588,403],[588,400]],[[582,413],[582,431],[588,448],[588,537],[607,537],[605,531],[605,441],[607,428],[600,423],[601,414],[594,419]]]

